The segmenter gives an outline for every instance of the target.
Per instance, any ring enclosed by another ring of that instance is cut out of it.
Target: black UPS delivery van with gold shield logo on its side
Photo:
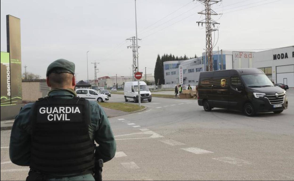
[[[198,81],[198,105],[244,111],[281,113],[288,108],[286,91],[275,86],[256,68],[201,72]]]

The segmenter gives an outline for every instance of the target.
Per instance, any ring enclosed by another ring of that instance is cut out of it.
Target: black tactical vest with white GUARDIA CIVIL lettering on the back
[[[88,100],[41,98],[33,111],[30,168],[43,173],[76,174],[94,167]]]

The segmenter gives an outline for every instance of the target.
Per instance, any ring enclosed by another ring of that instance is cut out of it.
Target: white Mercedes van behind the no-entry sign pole
[[[124,97],[125,101],[138,102],[138,81],[126,82],[124,86]],[[143,81],[140,81],[140,94],[141,101],[151,102],[152,96],[147,84]]]

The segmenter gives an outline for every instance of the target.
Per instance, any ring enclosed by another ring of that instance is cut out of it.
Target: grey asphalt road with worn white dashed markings
[[[205,112],[193,99],[142,102],[145,111],[109,119],[117,154],[103,180],[294,180],[294,91],[287,96],[283,113],[255,117]],[[24,180],[26,170],[9,163],[9,134],[1,131],[1,180]]]

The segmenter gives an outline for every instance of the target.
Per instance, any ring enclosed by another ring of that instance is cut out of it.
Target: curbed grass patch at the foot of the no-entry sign
[[[121,103],[121,102],[98,102],[98,104],[102,107],[108,108],[108,109],[115,109],[119,111],[125,111],[125,112],[133,112],[133,111],[139,111],[145,108],[145,106],[141,106],[141,108],[137,104],[128,104],[128,103]]]

